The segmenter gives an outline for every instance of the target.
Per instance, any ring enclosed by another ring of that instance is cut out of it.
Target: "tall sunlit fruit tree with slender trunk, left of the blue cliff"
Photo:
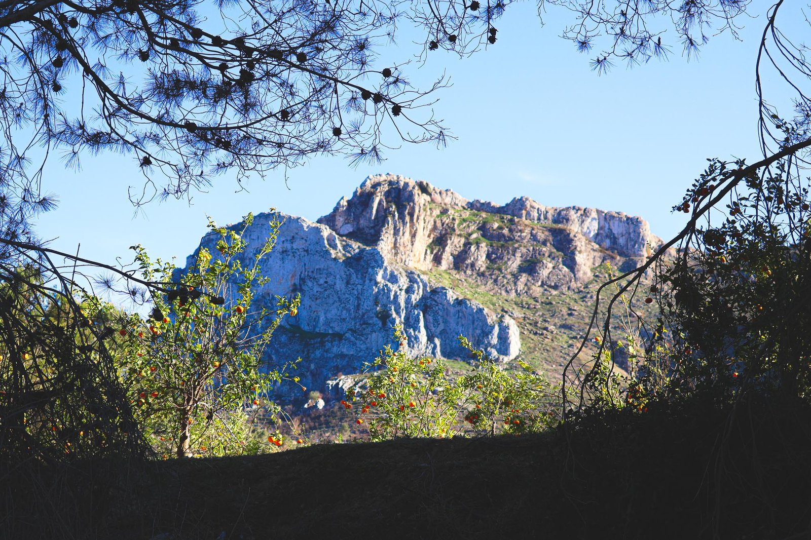
[[[190,456],[200,452],[254,452],[246,420],[255,420],[259,406],[279,412],[264,397],[290,377],[300,359],[281,369],[264,370],[265,345],[286,313],[298,308],[298,297],[276,297],[276,306],[255,306],[257,285],[264,285],[260,259],[276,242],[282,221],[270,222],[264,245],[243,266],[242,239],[251,225],[249,214],[241,228],[208,222],[217,237],[217,257],[200,247],[189,268],[178,269],[160,259],[152,261],[142,246],[134,246],[144,280],[171,283],[168,293],[152,294],[148,319],[122,319],[121,376],[136,405],[136,418],[152,434],[157,448]]]

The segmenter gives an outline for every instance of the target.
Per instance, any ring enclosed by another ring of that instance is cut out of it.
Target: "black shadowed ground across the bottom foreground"
[[[811,414],[651,406],[568,432],[82,463],[0,487],[0,535],[26,540],[811,538]]]

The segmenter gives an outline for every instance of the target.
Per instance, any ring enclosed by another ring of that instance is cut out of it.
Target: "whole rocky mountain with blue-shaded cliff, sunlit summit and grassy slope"
[[[268,218],[243,236],[247,256]],[[463,334],[501,361],[556,371],[606,264],[633,268],[661,243],[620,212],[526,197],[498,206],[391,174],[367,178],[317,223],[286,216],[280,233],[256,301],[299,293],[302,306],[277,329],[268,362],[303,358],[302,383],[320,390],[375,358],[397,323],[410,354],[465,360]]]

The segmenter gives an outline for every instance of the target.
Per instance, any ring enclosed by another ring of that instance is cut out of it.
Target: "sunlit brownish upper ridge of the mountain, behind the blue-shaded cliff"
[[[574,288],[592,268],[636,266],[661,240],[646,221],[595,208],[504,206],[393,174],[371,176],[319,223],[408,268],[463,272],[491,291]]]

